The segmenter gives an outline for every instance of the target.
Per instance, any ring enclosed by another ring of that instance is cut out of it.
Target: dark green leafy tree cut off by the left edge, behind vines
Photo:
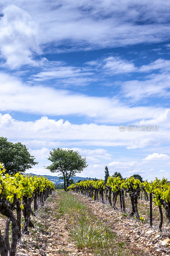
[[[0,162],[6,169],[6,173],[11,175],[17,172],[25,172],[38,164],[34,162],[34,157],[30,155],[25,145],[12,143],[7,138],[0,137]]]

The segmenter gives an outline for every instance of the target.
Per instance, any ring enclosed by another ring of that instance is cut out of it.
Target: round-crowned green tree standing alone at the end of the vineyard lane
[[[46,169],[50,170],[50,172],[60,172],[64,180],[65,191],[69,186],[70,177],[74,177],[76,173],[80,173],[88,166],[85,157],[83,158],[77,151],[71,149],[53,148],[53,151],[50,151],[48,160],[52,164],[47,166]]]

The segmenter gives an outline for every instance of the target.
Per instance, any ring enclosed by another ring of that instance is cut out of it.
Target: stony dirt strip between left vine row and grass
[[[59,196],[54,193],[38,215],[31,217],[35,228],[29,229],[30,235],[22,236],[17,246],[17,256],[93,256],[85,249],[79,250],[69,241],[67,216],[61,217],[57,212],[58,202]]]

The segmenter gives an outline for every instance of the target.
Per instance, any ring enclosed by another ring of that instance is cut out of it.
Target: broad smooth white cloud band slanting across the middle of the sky
[[[99,123],[113,124],[151,119],[158,111],[165,112],[164,108],[130,107],[114,98],[92,97],[48,86],[26,86],[3,73],[0,73],[0,79],[0,111],[87,116]]]

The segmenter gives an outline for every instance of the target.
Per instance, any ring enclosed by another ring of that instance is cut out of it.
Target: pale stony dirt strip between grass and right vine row
[[[80,194],[74,194],[79,198],[92,213],[107,225],[113,228],[120,241],[129,244],[132,250],[143,251],[145,255],[170,255],[170,246],[163,246],[161,240],[167,238],[162,234],[158,227],[151,228],[148,224],[123,216],[122,212],[115,211],[113,208],[99,201],[94,201]]]

